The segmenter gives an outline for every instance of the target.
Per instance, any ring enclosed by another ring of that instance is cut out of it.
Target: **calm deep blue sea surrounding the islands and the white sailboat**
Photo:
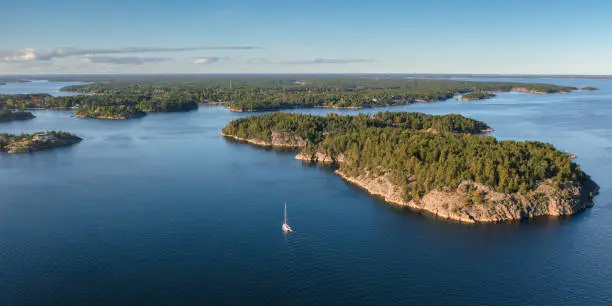
[[[0,300],[608,304],[612,81],[546,81],[601,90],[368,110],[461,113],[501,139],[551,142],[577,154],[601,186],[584,213],[513,224],[436,220],[387,205],[294,153],[227,141],[219,130],[247,114],[220,106],[129,121],[35,111],[33,120],[2,124],[0,132],[57,129],[84,141],[0,155]],[[288,236],[284,201],[296,230]]]

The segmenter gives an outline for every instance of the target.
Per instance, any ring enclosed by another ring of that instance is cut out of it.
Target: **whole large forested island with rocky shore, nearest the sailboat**
[[[535,141],[498,141],[460,115],[271,113],[231,121],[221,134],[291,147],[389,203],[460,222],[566,216],[599,187],[567,153]]]

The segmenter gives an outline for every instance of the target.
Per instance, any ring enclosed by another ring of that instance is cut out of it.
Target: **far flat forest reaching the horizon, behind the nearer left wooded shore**
[[[225,103],[235,111],[296,107],[376,107],[447,100],[470,92],[508,92],[526,88],[541,93],[574,87],[536,83],[470,82],[403,77],[201,76],[105,79],[63,90],[107,96],[180,97],[196,103]]]

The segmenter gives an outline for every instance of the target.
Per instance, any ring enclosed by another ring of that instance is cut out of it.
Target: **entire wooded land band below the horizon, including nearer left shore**
[[[456,95],[485,99],[493,92],[553,94],[577,89],[540,83],[348,76],[134,76],[80,81],[93,83],[61,91],[83,95],[0,95],[0,108],[75,109],[75,115],[84,118],[132,119],[152,112],[195,110],[198,104],[223,104],[233,112],[361,109],[433,103]]]

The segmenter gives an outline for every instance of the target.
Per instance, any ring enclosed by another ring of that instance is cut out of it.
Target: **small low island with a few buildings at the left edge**
[[[0,151],[7,153],[27,153],[65,147],[82,139],[66,132],[47,131],[34,134],[0,134]]]

